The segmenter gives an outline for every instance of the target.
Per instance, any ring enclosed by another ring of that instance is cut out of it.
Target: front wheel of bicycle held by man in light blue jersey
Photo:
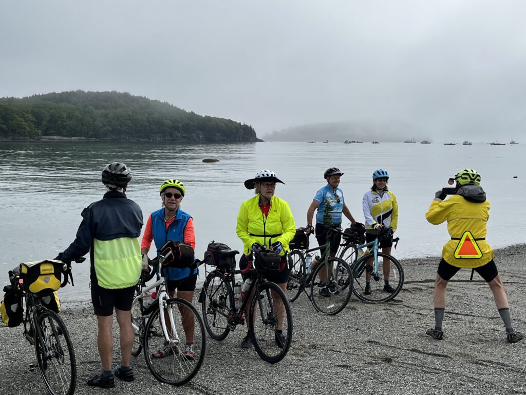
[[[328,315],[342,311],[352,294],[352,272],[346,261],[329,258],[312,272],[310,299],[316,310]]]

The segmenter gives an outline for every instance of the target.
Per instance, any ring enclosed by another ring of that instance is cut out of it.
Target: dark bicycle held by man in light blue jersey
[[[305,234],[306,228],[297,232]],[[343,234],[337,225],[330,225],[327,230],[327,244],[304,251],[290,251],[290,277],[287,284],[287,298],[290,302],[298,299],[301,291],[305,291],[313,307],[324,314],[336,315],[345,309],[352,294],[352,271],[346,261],[330,256],[331,238],[335,233]],[[310,233],[307,234],[307,238]],[[323,257],[312,272],[307,272],[306,257],[314,251],[325,249]],[[327,278],[327,273],[329,276]],[[350,287],[349,287],[349,284]],[[323,289],[327,291],[323,292]],[[309,292],[307,292],[307,289]],[[318,290],[318,292],[316,292]]]

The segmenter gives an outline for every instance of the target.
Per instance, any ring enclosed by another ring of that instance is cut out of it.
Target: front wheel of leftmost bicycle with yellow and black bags
[[[77,385],[77,365],[66,325],[47,309],[37,313],[35,325],[36,359],[48,392],[72,395]]]

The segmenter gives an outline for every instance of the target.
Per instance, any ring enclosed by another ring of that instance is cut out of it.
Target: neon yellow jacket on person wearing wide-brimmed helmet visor
[[[269,235],[280,234],[273,237],[271,242],[280,241],[283,244],[281,255],[284,255],[285,251],[289,250],[289,242],[296,233],[296,225],[289,204],[277,196],[272,196],[270,198],[270,210],[265,218],[265,214],[259,208],[258,203],[259,195],[251,197],[241,203],[237,215],[236,233],[243,242],[244,253],[251,252],[254,243],[266,245],[268,249]]]

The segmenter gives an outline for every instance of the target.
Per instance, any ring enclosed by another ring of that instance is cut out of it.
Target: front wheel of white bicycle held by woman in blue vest
[[[146,323],[144,356],[151,374],[160,382],[180,386],[199,371],[206,352],[205,327],[196,308],[180,298],[168,299],[165,314],[170,339],[166,340],[159,309]],[[170,328],[170,317],[174,326]]]

